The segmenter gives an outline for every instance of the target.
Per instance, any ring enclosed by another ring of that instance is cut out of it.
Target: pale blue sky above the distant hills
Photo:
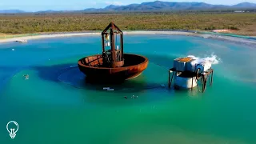
[[[109,5],[128,5],[131,3],[154,2],[155,0],[0,0],[0,10],[84,10],[103,8]],[[165,2],[206,2],[210,4],[234,5],[256,0],[161,0]]]

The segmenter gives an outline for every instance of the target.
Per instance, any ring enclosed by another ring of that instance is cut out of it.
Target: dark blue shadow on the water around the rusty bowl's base
[[[145,75],[124,82],[94,82],[86,78],[76,66],[76,63],[66,63],[53,66],[34,66],[39,78],[51,82],[62,82],[85,90],[103,90],[104,87],[114,89],[115,92],[138,92],[162,88],[161,83],[147,82]]]

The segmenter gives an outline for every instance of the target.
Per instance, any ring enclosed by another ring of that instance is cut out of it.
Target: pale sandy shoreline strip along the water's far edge
[[[222,36],[218,34],[198,34],[192,32],[182,32],[182,31],[124,31],[123,34],[166,34],[166,35],[187,35],[187,36],[198,36],[202,38],[215,38],[231,42],[239,43],[248,43],[256,45],[256,40],[247,39],[247,38],[235,38],[230,36]],[[42,34],[34,36],[25,36],[18,38],[6,38],[0,39],[2,42],[15,42],[17,40],[30,40],[30,39],[39,39],[39,38],[61,38],[61,37],[73,37],[73,36],[90,36],[90,35],[101,35],[101,33],[95,32],[85,32],[85,33],[68,33],[68,34]],[[253,37],[252,37],[253,38]]]

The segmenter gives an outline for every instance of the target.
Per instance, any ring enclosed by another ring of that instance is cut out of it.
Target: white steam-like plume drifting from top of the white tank
[[[221,62],[221,58],[218,58],[217,55],[211,54],[210,57],[206,58],[198,58],[194,55],[188,55],[187,57],[195,59],[193,63],[210,63],[211,65],[217,65],[219,62]]]

